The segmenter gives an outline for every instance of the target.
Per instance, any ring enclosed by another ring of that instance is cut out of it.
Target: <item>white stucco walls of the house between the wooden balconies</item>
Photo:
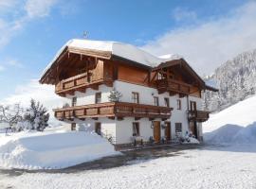
[[[182,124],[183,135],[185,135],[186,131],[190,131],[188,121],[188,106],[190,100],[196,102],[197,110],[202,109],[202,99],[198,97],[188,96],[179,98],[178,95],[170,96],[169,93],[158,94],[157,90],[154,88],[122,82],[119,80],[114,81],[113,88],[122,94],[120,98],[120,101],[122,102],[133,102],[132,92],[139,93],[139,104],[146,105],[154,105],[154,96],[158,96],[159,106],[165,106],[164,98],[168,97],[170,99],[170,107],[174,109],[172,111],[172,116],[166,120],[171,123],[172,140],[175,139],[175,123]],[[108,96],[113,88],[101,85],[99,90],[86,89],[86,93],[75,92],[74,95],[67,95],[66,97],[70,99],[71,103],[72,97],[76,96],[76,105],[80,106],[94,104],[95,94],[101,92],[101,102],[109,102]],[[181,100],[181,110],[177,110],[177,99]],[[161,119],[155,119],[155,121],[160,121],[161,124],[164,123],[164,121],[161,121]],[[117,118],[99,118],[98,120],[88,118],[84,121],[75,119],[73,122],[77,123],[77,129],[89,130],[94,130],[96,122],[100,122],[101,132],[105,137],[111,137],[114,144],[128,144],[132,142],[131,138],[133,135],[133,122],[139,123],[139,134],[144,141],[148,141],[149,138],[154,135],[152,121],[150,121],[148,118],[141,118],[139,120],[135,120],[134,117],[125,117],[123,120],[118,120]],[[202,136],[202,127],[200,123],[197,123],[197,134],[199,137]],[[161,136],[164,136],[164,129],[162,128]]]

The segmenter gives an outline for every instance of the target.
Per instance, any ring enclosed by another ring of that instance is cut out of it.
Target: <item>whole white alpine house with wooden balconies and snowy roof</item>
[[[71,40],[64,44],[40,79],[55,85],[69,104],[54,109],[71,129],[94,129],[113,145],[172,141],[188,132],[198,140],[206,85],[178,56],[155,57],[136,46]]]

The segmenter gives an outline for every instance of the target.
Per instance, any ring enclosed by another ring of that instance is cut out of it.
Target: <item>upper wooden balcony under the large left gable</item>
[[[112,77],[101,77],[94,72],[83,73],[58,82],[55,86],[55,93],[60,95],[73,94],[75,91],[85,91],[86,88],[98,89],[101,84],[112,86]]]

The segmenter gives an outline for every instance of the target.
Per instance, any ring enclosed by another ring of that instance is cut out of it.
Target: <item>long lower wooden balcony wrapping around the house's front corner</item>
[[[172,108],[159,107],[151,105],[142,105],[127,102],[107,102],[92,105],[68,107],[63,109],[55,109],[55,117],[59,120],[74,118],[94,118],[99,117],[135,117],[139,118],[161,118],[162,120],[169,119],[171,116]]]

